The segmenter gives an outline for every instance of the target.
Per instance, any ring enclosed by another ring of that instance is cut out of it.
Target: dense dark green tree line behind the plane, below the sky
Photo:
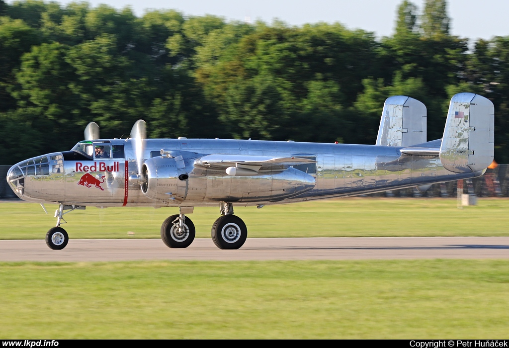
[[[70,149],[91,121],[104,138],[144,119],[150,137],[374,144],[397,94],[426,104],[432,140],[458,92],[494,102],[495,159],[507,163],[509,36],[468,50],[444,0],[395,11],[393,36],[377,40],[340,23],[0,0],[0,164]]]

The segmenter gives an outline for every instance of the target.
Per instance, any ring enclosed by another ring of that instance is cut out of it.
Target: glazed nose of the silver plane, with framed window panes
[[[39,195],[52,172],[63,173],[62,154],[50,154],[24,160],[7,171],[7,182],[20,198],[44,199]]]

